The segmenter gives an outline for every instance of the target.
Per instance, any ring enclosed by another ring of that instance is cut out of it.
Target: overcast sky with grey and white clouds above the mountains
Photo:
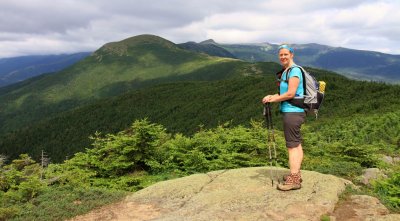
[[[94,51],[140,34],[174,43],[318,43],[400,54],[400,1],[0,1],[0,58]]]

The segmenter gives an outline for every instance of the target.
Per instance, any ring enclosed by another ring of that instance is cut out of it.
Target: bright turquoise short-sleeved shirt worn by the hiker
[[[300,79],[299,86],[297,87],[295,97],[304,97],[303,75],[301,74],[300,68],[292,66],[292,68],[291,68],[291,70],[289,72],[289,79],[292,78],[292,77],[298,77]],[[289,89],[289,87],[288,87],[288,81],[289,80],[287,79],[286,71],[283,72],[281,80],[282,81],[280,83],[279,92],[280,92],[280,94],[284,94]],[[300,107],[293,106],[287,101],[283,101],[283,102],[281,102],[281,112],[283,112],[283,113],[304,112],[304,109],[300,108]]]

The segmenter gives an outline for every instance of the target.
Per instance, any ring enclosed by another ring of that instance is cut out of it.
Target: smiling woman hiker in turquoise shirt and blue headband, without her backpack
[[[305,121],[306,113],[303,108],[293,106],[288,100],[304,96],[303,76],[293,61],[293,49],[284,44],[279,46],[279,61],[283,67],[280,79],[279,94],[267,95],[262,102],[281,102],[280,110],[283,113],[283,130],[286,147],[289,153],[290,174],[284,177],[284,183],[278,185],[279,190],[295,190],[301,188],[300,167],[303,161],[303,147],[301,146],[300,128]],[[289,73],[288,70],[290,69]]]

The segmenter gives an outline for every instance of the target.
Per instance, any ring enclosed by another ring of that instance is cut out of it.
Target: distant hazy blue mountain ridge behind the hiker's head
[[[279,45],[219,44],[237,58],[255,62],[278,62]],[[332,47],[316,43],[293,44],[295,62],[302,66],[326,69],[359,80],[400,82],[400,55]]]

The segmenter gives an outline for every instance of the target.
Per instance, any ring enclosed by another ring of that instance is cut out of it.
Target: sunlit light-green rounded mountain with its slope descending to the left
[[[0,133],[132,89],[222,79],[243,63],[187,51],[153,35],[108,43],[59,73],[0,90]]]

